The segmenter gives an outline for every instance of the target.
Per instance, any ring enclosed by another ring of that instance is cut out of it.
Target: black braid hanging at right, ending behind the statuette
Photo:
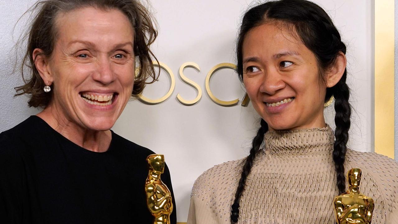
[[[348,130],[351,125],[351,106],[348,101],[349,88],[345,83],[346,77],[347,70],[344,71],[340,81],[331,88],[336,99],[334,104],[334,110],[336,110],[334,118],[336,124],[336,141],[334,142],[333,160],[336,166],[337,187],[340,194],[345,192],[344,160],[345,153],[347,152]]]

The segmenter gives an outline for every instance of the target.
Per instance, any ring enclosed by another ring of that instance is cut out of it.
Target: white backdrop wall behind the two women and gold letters
[[[13,98],[13,87],[21,84],[19,74],[10,75],[15,55],[12,28],[34,0],[0,0],[0,132],[12,128],[36,109],[27,108],[27,98]],[[355,108],[351,129],[351,148],[373,151],[373,3],[371,0],[318,0],[341,31],[348,45],[347,59],[351,103]],[[159,24],[159,37],[153,46],[159,61],[170,67],[176,79],[173,94],[166,101],[148,105],[130,102],[113,127],[119,135],[165,154],[170,167],[178,221],[185,222],[191,187],[209,167],[247,155],[259,118],[248,107],[215,104],[205,90],[209,70],[224,62],[235,63],[235,40],[240,17],[251,0],[152,0]],[[14,39],[19,37],[22,20]],[[179,67],[188,61],[199,65],[184,70],[184,75],[199,84],[203,96],[193,106],[178,102],[178,93],[187,100],[197,91],[179,78]],[[163,70],[157,83],[147,86],[144,96],[160,98],[166,94],[170,79]],[[231,69],[215,73],[210,83],[213,94],[222,100],[242,99],[244,88]],[[5,102],[4,102],[5,101]],[[331,126],[333,108],[325,112]]]

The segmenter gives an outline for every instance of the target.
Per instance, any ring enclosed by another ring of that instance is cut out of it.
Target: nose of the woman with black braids
[[[278,90],[285,88],[286,83],[282,80],[282,75],[279,71],[268,69],[265,71],[263,80],[260,86],[260,92],[273,95]]]

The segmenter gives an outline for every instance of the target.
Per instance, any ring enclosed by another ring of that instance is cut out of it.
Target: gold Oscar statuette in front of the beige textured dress
[[[359,193],[361,169],[348,171],[349,190],[334,198],[334,214],[338,224],[371,224],[374,202]]]

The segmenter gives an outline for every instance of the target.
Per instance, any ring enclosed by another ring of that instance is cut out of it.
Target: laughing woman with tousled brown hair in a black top
[[[33,11],[30,77],[16,90],[44,109],[0,134],[1,223],[153,222],[144,191],[153,152],[110,130],[156,79],[148,10],[137,0],[42,0]],[[162,179],[172,191],[167,167]]]

